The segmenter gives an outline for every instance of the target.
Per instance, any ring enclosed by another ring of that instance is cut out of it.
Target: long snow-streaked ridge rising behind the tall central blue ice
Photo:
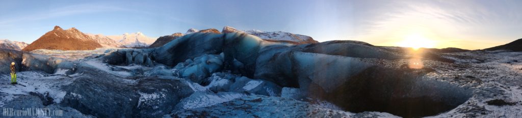
[[[297,43],[318,43],[318,41],[314,40],[310,36],[300,35],[300,34],[292,34],[287,32],[263,32],[258,30],[248,30],[248,31],[240,31],[236,30],[231,26],[224,26],[222,33],[233,33],[233,32],[245,32],[247,34],[255,35],[261,39],[268,41],[282,41],[282,42],[297,42]]]

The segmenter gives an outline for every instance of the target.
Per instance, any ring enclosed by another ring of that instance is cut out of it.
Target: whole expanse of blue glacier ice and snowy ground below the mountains
[[[16,85],[0,68],[0,107],[57,117],[522,117],[522,52],[193,33],[153,49],[0,54],[19,65]]]

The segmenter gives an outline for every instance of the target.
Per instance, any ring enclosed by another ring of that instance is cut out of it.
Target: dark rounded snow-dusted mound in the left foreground
[[[109,79],[110,78],[110,79]],[[129,80],[89,73],[64,87],[62,106],[97,117],[159,117],[193,93],[186,82],[165,79]]]

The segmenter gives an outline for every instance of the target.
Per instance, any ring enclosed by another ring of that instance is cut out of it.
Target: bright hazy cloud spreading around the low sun
[[[366,30],[358,38],[376,45],[391,45],[408,35],[422,34],[443,44],[437,48],[484,48],[489,44],[470,47],[463,45],[462,41],[489,38],[489,42],[496,44],[499,41],[492,38],[516,35],[511,30],[513,26],[520,27],[522,20],[521,14],[513,12],[515,9],[520,11],[520,8],[502,2],[393,1],[375,9],[371,14],[374,17],[361,24]]]

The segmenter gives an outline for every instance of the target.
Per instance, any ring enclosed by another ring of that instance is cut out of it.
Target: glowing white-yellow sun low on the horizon
[[[404,40],[397,42],[397,45],[400,47],[408,47],[413,50],[418,50],[419,48],[434,48],[436,42],[425,36],[419,34],[407,35],[404,37]]]

